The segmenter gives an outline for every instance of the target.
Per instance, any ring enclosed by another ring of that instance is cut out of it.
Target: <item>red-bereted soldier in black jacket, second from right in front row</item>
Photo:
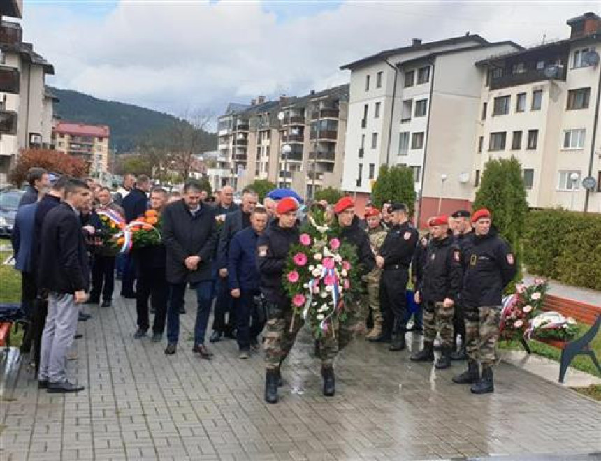
[[[463,278],[461,253],[449,231],[446,216],[430,219],[428,226],[431,239],[426,250],[426,264],[415,291],[415,302],[423,305],[423,349],[414,353],[411,360],[434,360],[433,343],[439,333],[442,355],[435,367],[445,369],[451,365],[454,306]]]

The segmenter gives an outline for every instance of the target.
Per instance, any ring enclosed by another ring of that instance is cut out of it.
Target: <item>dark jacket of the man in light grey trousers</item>
[[[44,219],[38,286],[57,293],[89,289],[89,263],[81,224],[68,203],[53,208]]]

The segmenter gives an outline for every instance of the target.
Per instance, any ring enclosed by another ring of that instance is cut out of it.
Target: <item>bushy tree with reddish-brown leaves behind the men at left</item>
[[[27,149],[20,153],[15,168],[10,172],[10,181],[20,186],[27,177],[27,171],[33,166],[73,177],[87,175],[88,169],[88,165],[83,159],[64,152],[50,149]]]

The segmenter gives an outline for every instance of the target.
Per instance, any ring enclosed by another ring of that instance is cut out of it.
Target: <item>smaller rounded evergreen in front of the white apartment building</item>
[[[378,208],[386,202],[405,203],[412,216],[415,211],[415,183],[411,168],[382,165],[372,188],[372,198]]]

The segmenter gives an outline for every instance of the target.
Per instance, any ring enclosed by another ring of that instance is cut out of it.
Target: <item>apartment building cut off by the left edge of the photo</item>
[[[21,149],[50,147],[52,101],[45,76],[53,75],[52,64],[22,42],[17,22],[3,16],[21,17],[22,2],[9,0],[0,5],[0,182]]]

